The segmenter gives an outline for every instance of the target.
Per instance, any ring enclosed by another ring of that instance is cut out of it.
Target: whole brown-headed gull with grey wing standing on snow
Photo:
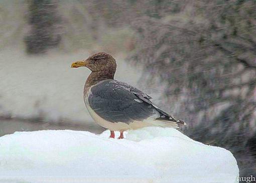
[[[120,131],[121,139],[123,131],[129,129],[186,125],[155,105],[148,94],[115,80],[116,61],[110,54],[97,52],[71,64],[81,66],[91,70],[83,90],[85,106],[96,123],[110,130],[110,138],[114,138],[114,131]]]

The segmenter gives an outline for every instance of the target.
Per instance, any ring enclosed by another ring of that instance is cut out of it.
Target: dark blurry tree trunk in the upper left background
[[[61,40],[56,0],[29,0],[30,31],[25,36],[27,53],[44,53],[57,47]]]

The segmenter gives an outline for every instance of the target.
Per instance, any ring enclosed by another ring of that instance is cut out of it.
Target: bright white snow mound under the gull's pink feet
[[[108,135],[42,130],[2,136],[0,182],[237,182],[230,151],[176,129],[130,130],[125,139]]]

